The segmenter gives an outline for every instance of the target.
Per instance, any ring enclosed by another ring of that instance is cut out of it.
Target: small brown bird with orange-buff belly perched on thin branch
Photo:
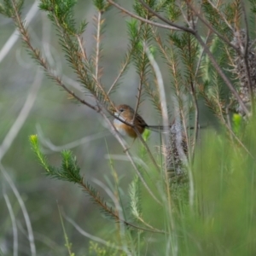
[[[124,120],[126,123],[130,123],[132,125],[132,119],[134,117],[134,110],[128,105],[119,105],[116,107],[114,115],[117,116],[119,119]],[[113,120],[113,125],[117,131],[123,136],[133,137],[134,139],[137,138],[137,133],[134,128],[130,125],[126,125],[125,123],[121,122],[119,119]],[[163,130],[163,126],[160,125],[148,125],[144,119],[136,113],[134,124],[137,127],[137,131],[140,134],[143,134],[145,129],[150,129],[154,131]]]

